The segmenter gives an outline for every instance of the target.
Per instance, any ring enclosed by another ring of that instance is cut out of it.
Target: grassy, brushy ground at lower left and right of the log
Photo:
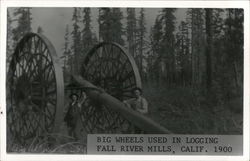
[[[242,134],[242,99],[215,105],[190,88],[159,88],[144,86],[143,95],[149,103],[148,116],[175,134]],[[10,138],[9,138],[10,139]],[[21,146],[9,141],[12,153],[86,153],[86,140],[76,142],[67,136],[61,125],[58,134],[34,138]]]

